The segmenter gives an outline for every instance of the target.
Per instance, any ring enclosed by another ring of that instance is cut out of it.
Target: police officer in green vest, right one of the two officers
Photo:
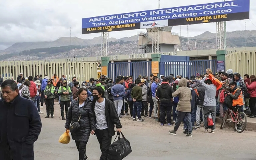
[[[58,90],[58,95],[60,96],[60,114],[62,120],[66,120],[68,114],[68,107],[70,106],[70,95],[72,95],[72,91],[70,90],[70,87],[67,86],[66,80],[63,80],[62,86],[60,86]],[[64,117],[64,106],[66,118]]]

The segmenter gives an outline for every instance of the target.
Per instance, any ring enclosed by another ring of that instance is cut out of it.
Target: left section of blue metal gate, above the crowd
[[[137,78],[141,76],[149,76],[151,72],[151,62],[116,62],[108,64],[108,77],[115,79],[117,76],[130,76]]]

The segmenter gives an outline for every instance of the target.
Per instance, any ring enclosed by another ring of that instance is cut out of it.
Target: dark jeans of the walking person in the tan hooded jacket
[[[185,118],[188,128],[188,133],[192,133],[192,124],[191,124],[191,114],[190,112],[180,112],[177,111],[177,117],[176,117],[176,123],[174,126],[174,131],[176,132],[182,122],[182,120]]]

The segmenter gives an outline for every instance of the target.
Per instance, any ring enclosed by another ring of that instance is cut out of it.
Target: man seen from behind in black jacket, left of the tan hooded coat
[[[169,85],[168,79],[164,78],[161,85],[156,90],[156,97],[160,98],[160,123],[164,126],[165,114],[167,116],[168,126],[172,126],[171,111],[172,111],[172,94],[174,90]]]

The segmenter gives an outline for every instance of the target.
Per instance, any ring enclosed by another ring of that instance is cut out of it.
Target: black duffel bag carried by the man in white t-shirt
[[[132,152],[130,142],[124,137],[124,134],[121,132],[122,138],[120,138],[120,133],[117,132],[116,138],[108,150],[108,160],[122,160],[128,154]]]

